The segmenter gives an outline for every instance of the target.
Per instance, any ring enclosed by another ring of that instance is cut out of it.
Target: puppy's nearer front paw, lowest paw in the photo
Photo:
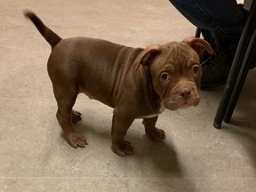
[[[122,141],[116,144],[112,144],[111,149],[118,156],[126,156],[133,154],[132,144],[129,141]]]

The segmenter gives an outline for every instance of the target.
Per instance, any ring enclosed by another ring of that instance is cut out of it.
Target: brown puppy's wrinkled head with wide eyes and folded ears
[[[198,105],[202,76],[199,54],[204,50],[213,52],[203,39],[188,37],[182,42],[149,45],[141,54],[138,65],[148,65],[152,84],[165,108]]]

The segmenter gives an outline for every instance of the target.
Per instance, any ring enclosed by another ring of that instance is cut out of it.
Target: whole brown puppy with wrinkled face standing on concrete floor
[[[48,74],[58,103],[57,118],[73,148],[87,144],[73,128],[81,120],[81,114],[72,109],[78,93],[114,108],[111,148],[118,156],[133,153],[124,136],[135,118],[143,118],[149,139],[164,140],[164,131],[156,128],[157,116],[165,108],[176,110],[199,103],[198,54],[212,53],[204,40],[188,37],[141,49],[86,37],[61,39],[33,12],[25,12],[25,16],[52,46]]]

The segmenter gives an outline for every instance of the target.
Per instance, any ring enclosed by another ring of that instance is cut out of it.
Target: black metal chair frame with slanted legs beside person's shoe
[[[195,36],[199,37],[200,35],[201,29],[196,28]],[[216,129],[220,129],[223,120],[229,123],[253,62],[256,62],[256,0],[252,1],[249,17],[244,25],[219,108],[214,118],[213,126]]]

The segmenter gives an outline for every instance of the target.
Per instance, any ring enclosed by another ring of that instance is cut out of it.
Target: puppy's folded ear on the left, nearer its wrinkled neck
[[[148,65],[156,58],[156,56],[161,52],[162,48],[159,44],[149,45],[143,52],[140,53],[139,58],[136,62],[135,71],[141,65]]]

